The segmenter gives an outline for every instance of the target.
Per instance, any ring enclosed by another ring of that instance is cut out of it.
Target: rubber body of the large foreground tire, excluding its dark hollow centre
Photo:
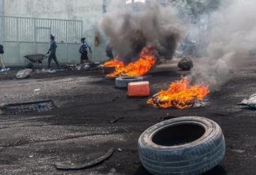
[[[157,132],[182,124],[201,125],[206,132],[198,140],[184,145],[166,147],[152,142],[152,137]],[[154,169],[149,169],[147,164],[151,164],[152,167],[160,165],[158,169],[161,167],[165,172],[166,169],[175,169],[175,172],[180,172],[179,174],[201,174],[218,165],[225,155],[225,140],[220,126],[213,120],[198,117],[174,118],[158,123],[143,132],[139,137],[138,146],[142,164],[153,174]],[[181,164],[187,164],[186,169],[181,168]],[[191,171],[195,168],[191,164],[201,166],[196,166],[198,170],[195,172]]]

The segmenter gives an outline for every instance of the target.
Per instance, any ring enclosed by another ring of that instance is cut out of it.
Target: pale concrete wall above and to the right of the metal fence
[[[0,0],[0,6],[1,6]],[[5,16],[55,18],[83,21],[84,35],[92,45],[95,62],[105,60],[105,39],[94,45],[97,22],[102,17],[104,0],[4,0]],[[0,7],[1,9],[1,7]]]

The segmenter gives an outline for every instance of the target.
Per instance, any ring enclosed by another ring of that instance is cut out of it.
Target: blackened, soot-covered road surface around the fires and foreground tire
[[[137,140],[161,120],[196,115],[215,120],[223,128],[227,153],[209,174],[255,174],[255,111],[236,106],[256,91],[256,61],[208,96],[201,108],[161,110],[146,105],[147,98],[127,98],[124,89],[101,72],[36,74],[16,80],[0,75],[0,103],[54,101],[53,111],[0,115],[1,174],[147,174],[139,163]],[[188,72],[175,67],[147,76],[152,94]],[[40,89],[40,91],[34,91]],[[114,117],[124,116],[117,123]],[[55,162],[87,162],[115,152],[103,164],[82,171],[58,171]],[[117,150],[119,149],[119,150]]]

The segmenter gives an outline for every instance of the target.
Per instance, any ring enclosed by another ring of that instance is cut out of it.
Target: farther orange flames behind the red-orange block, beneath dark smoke
[[[119,60],[112,60],[106,62],[103,67],[115,67],[115,71],[108,74],[107,77],[138,77],[149,72],[149,70],[156,64],[156,58],[154,57],[154,48],[144,47],[139,60],[124,65],[124,62]]]

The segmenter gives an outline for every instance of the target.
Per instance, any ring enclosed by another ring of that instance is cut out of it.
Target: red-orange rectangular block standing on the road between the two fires
[[[128,96],[140,97],[149,96],[149,81],[132,82],[128,84]]]

